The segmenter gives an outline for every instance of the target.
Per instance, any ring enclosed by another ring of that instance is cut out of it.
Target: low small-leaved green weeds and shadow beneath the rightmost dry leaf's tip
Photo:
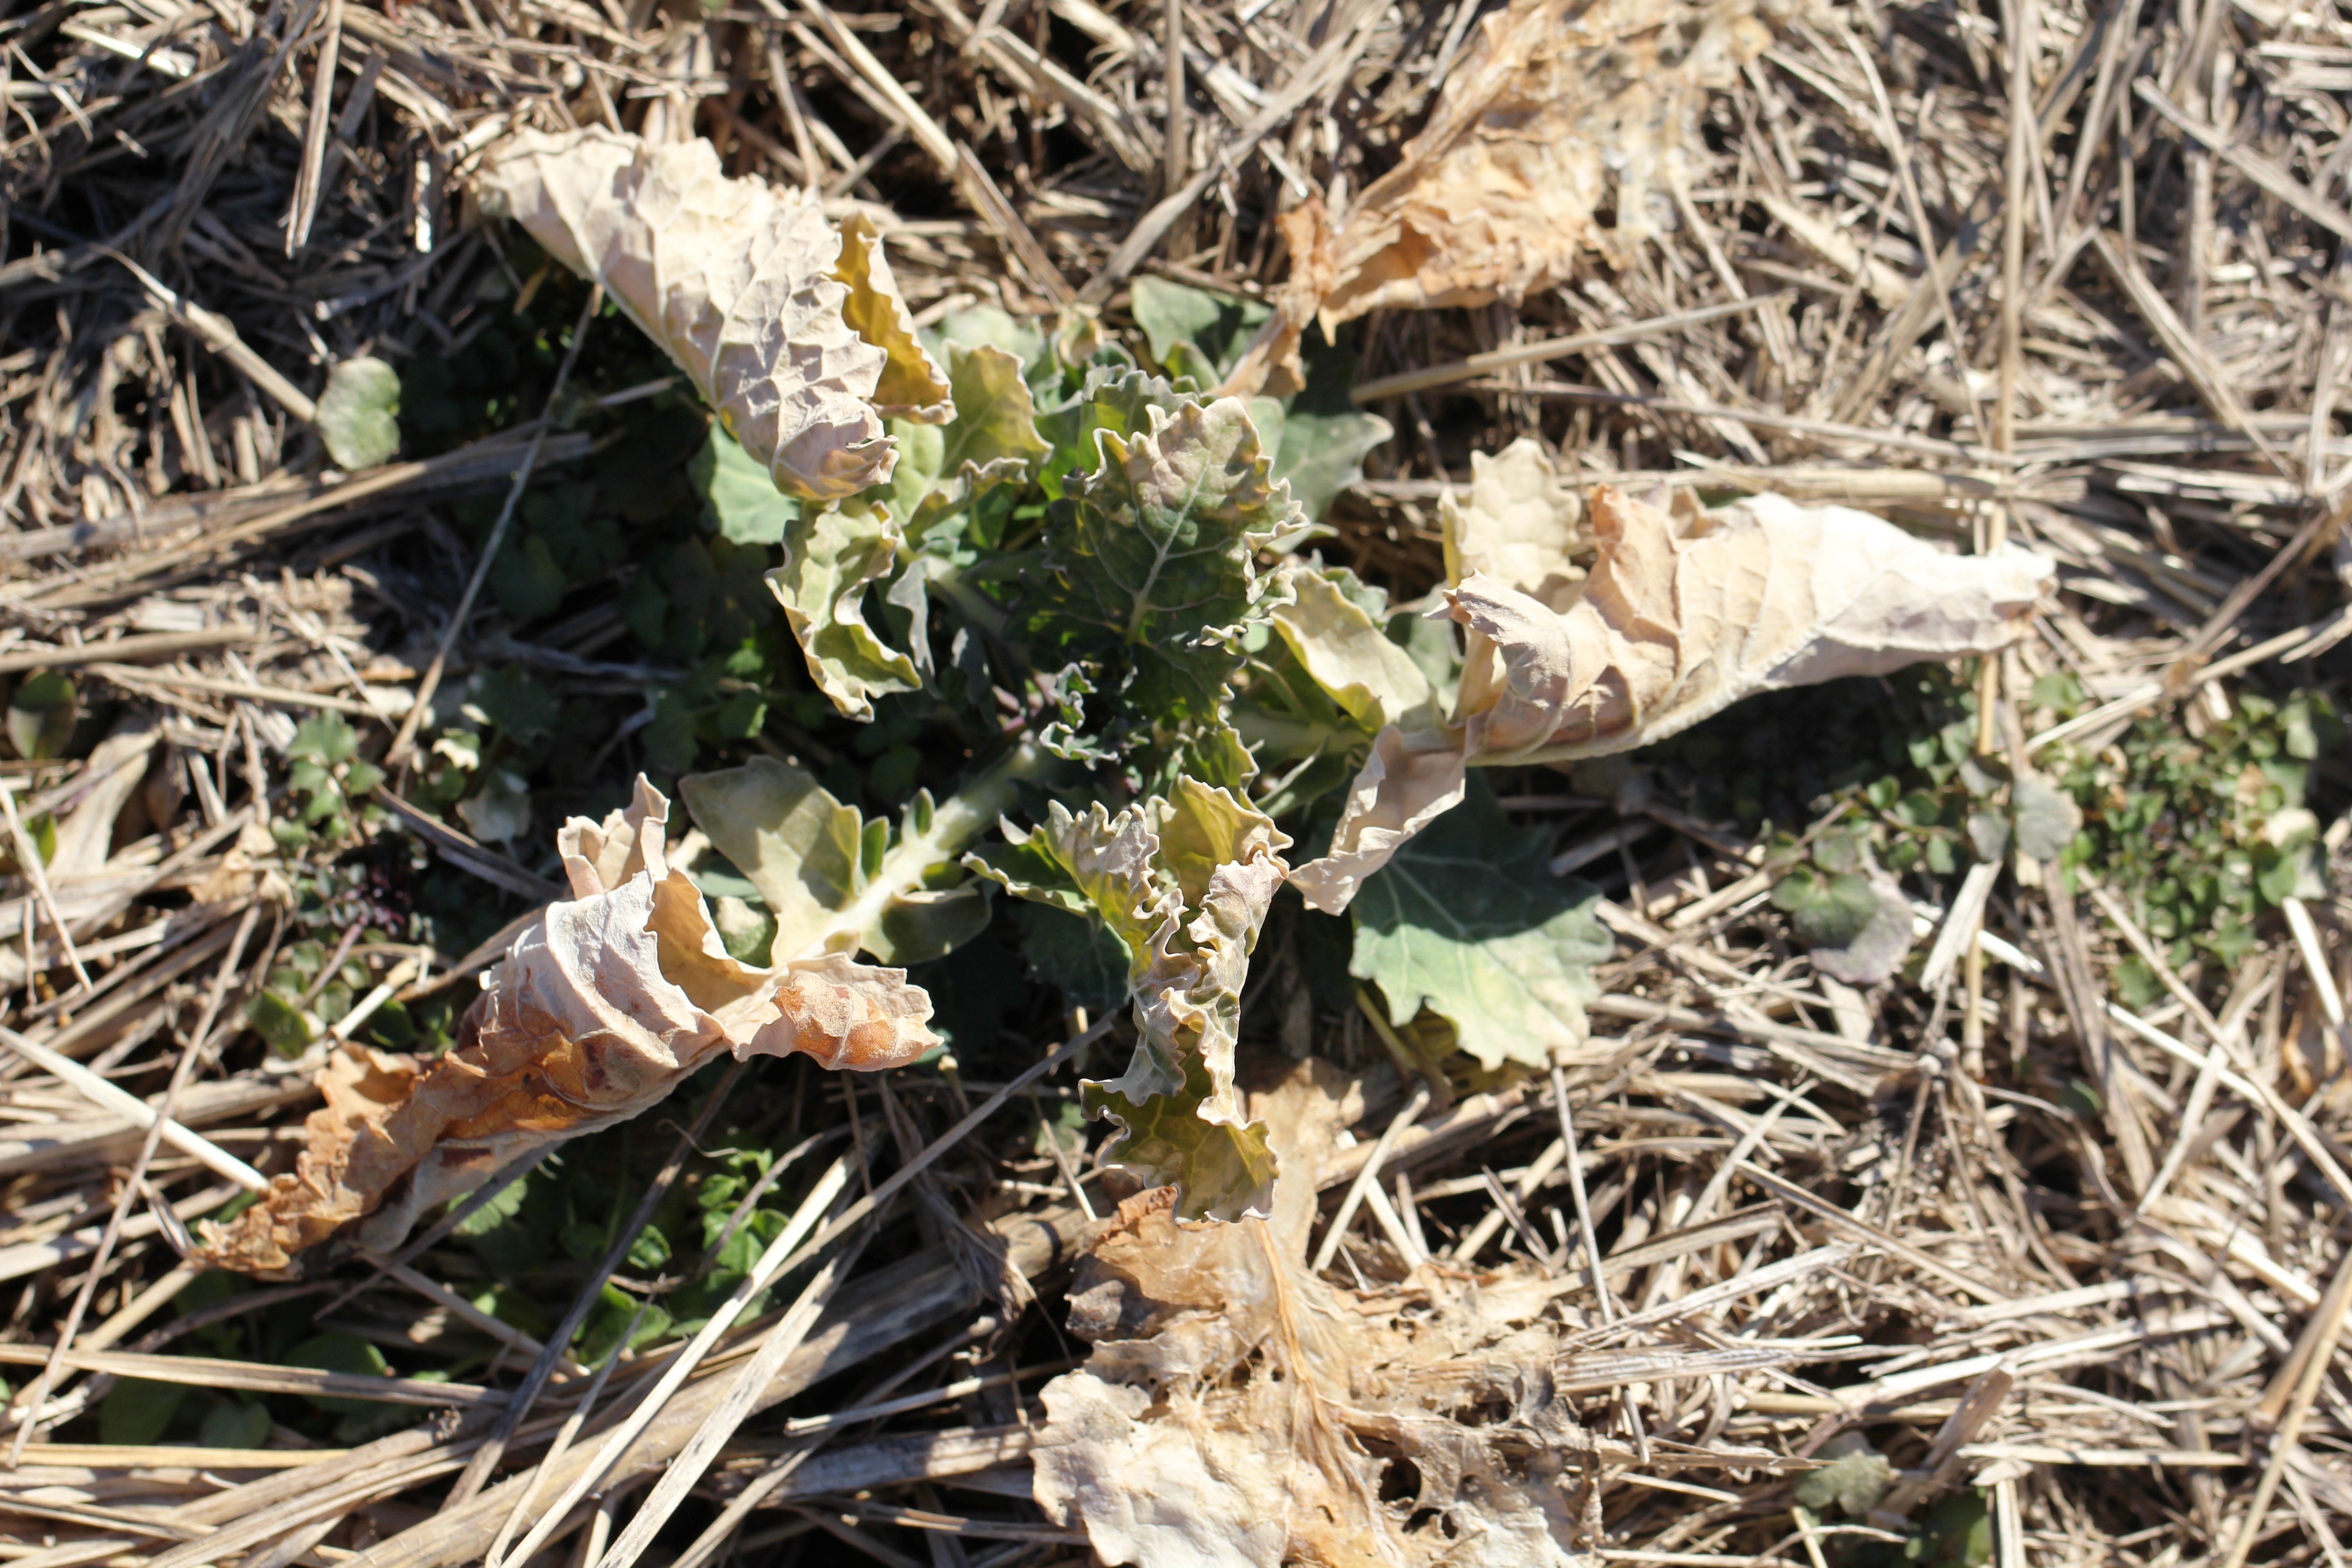
[[[2093,708],[2072,675],[2037,679],[2027,703],[2049,722]],[[1797,745],[1806,731],[1813,741]],[[1773,900],[1806,943],[1837,945],[1867,922],[1870,865],[1952,877],[1971,860],[2025,858],[2096,875],[2173,964],[2234,964],[2263,912],[2324,891],[2314,766],[2340,741],[2326,691],[2239,691],[2204,733],[2178,712],[2145,715],[2096,750],[2037,750],[2032,773],[2013,778],[2006,757],[1976,755],[1973,691],[1922,668],[1752,698],[1644,759],[1693,809],[1776,842]],[[1839,806],[1811,846],[1790,837]],[[2117,980],[2154,997],[2138,959]]]

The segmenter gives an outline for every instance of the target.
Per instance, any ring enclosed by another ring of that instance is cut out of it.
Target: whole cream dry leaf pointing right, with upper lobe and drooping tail
[[[1468,503],[1446,498],[1461,693],[1442,726],[1381,731],[1331,853],[1291,872],[1317,910],[1345,910],[1458,804],[1468,766],[1628,752],[1755,691],[1990,654],[2051,576],[2027,550],[1952,555],[1870,512],[1785,496],[1710,512],[1686,489],[1653,505],[1597,484],[1578,524],[1536,463],[1541,449],[1515,442],[1477,468]],[[1569,559],[1581,527],[1597,543],[1590,574]]]

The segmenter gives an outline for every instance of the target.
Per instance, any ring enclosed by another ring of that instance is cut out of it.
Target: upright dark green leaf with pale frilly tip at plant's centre
[[[1124,705],[1209,719],[1242,665],[1232,646],[1261,585],[1258,545],[1298,517],[1240,397],[1143,407],[1134,437],[1101,428],[1101,468],[1054,508],[1033,630],[1044,646],[1124,661]]]

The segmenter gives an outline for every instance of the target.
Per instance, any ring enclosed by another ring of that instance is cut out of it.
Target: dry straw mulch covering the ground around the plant
[[[877,1166],[927,1145],[941,1164],[898,1166],[891,1192],[920,1201],[875,1206],[866,1260],[851,1248],[804,1314],[776,1305],[717,1335],[656,1401],[640,1392],[673,1356],[623,1356],[609,1380],[567,1368],[482,1312],[466,1293],[480,1281],[452,1291],[433,1246],[179,1312],[195,1279],[172,1251],[179,1220],[252,1166],[282,1168],[313,1103],[315,1053],[270,1060],[238,1027],[270,952],[318,929],[287,879],[332,858],[266,832],[289,809],[294,719],[348,715],[381,755],[447,646],[452,679],[524,661],[604,701],[595,759],[621,776],[640,722],[614,698],[663,677],[604,654],[621,635],[609,592],[529,639],[494,611],[447,621],[473,559],[445,508],[506,494],[543,433],[536,407],[442,456],[332,475],[303,388],[329,357],[454,353],[510,308],[532,280],[508,275],[461,190],[468,160],[524,122],[706,134],[739,172],[821,183],[889,233],[922,320],[1082,301],[1117,327],[1138,268],[1272,296],[1289,275],[1272,216],[1308,186],[1341,207],[1392,165],[1477,12],[14,7],[0,670],[73,670],[134,724],[96,752],[0,764],[9,842],[40,813],[61,842],[47,879],[0,903],[0,1041],[28,1044],[0,1056],[0,1279],[16,1288],[0,1366],[19,1441],[0,1556],[454,1568],[517,1500],[529,1528],[562,1493],[579,1500],[532,1561],[595,1563],[734,1396],[774,1415],[727,1427],[654,1561],[1087,1559],[1028,1505],[1028,1448],[1037,1385],[1082,1354],[1056,1328],[1091,1220],[1068,1197],[1120,1190],[1058,1145],[953,1133],[995,1086],[929,1074],[877,1110],[771,1072],[793,1135],[854,1126]],[[1613,214],[1649,230],[1623,266],[1588,254],[1517,303],[1364,322],[1359,381],[1411,390],[1376,404],[1399,437],[1343,496],[1334,550],[1428,588],[1439,487],[1515,435],[1588,477],[1696,465],[2056,557],[2060,602],[1983,677],[2011,719],[1987,717],[1987,752],[2098,755],[2136,715],[2206,733],[2272,661],[2296,677],[2352,625],[2347,110],[2352,28],[2331,7],[1776,16],[1771,47],[1698,99],[1700,141],[1665,188]],[[1155,207],[1169,190],[1197,202]],[[1458,369],[1418,374],[1437,367]],[[588,447],[546,433],[536,465]],[[2056,717],[2025,693],[2063,672],[2098,705],[2039,733]],[[1585,875],[1618,867],[1592,1051],[1550,1079],[1432,1072],[1374,1180],[1355,1180],[1362,1154],[1324,1171],[1327,1213],[1345,1197],[1350,1222],[1327,1276],[1383,1300],[1482,1269],[1562,1281],[1555,1321],[1583,1328],[1555,1399],[1604,1460],[1576,1500],[1585,1549],[1863,1563],[1931,1516],[1966,1535],[1980,1495],[2004,1566],[2343,1563],[2352,905],[2288,903],[2234,966],[2176,973],[2103,891],[1952,877],[1950,914],[1922,910],[1929,973],[1856,997],[1790,947],[1764,849],[1736,827],[1625,797],[1656,830],[1623,835],[1559,790],[1531,780],[1524,820],[1562,823],[1564,849],[1595,842]],[[501,893],[541,886],[449,830],[430,842]],[[386,994],[421,999],[496,947],[355,952]],[[2145,1011],[2112,985],[2129,957],[2161,983]],[[1357,1011],[1294,1004],[1303,973],[1291,947],[1261,959],[1249,1037],[1362,1070],[1369,1150],[1404,1103],[1392,1053]],[[1068,1077],[1037,1084],[1061,1095]],[[720,1100],[694,1105],[710,1119]],[[143,1135],[155,1105],[202,1138]],[[640,1150],[640,1220],[691,1164],[680,1133],[644,1131],[659,1147]],[[1002,1246],[971,1244],[960,1211]],[[576,1276],[583,1312],[626,1251],[628,1227]],[[412,1380],[186,1359],[207,1324],[287,1302],[397,1340]],[[1788,1354],[1691,1371],[1726,1347]],[[517,1394],[534,1356],[539,1387]],[[449,1366],[470,1371],[414,1380]],[[428,1420],[348,1450],[282,1425],[249,1448],[96,1446],[89,1415],[122,1378],[360,1394]],[[604,1453],[621,1422],[637,1432]],[[1792,1460],[1851,1434],[1896,1469],[1879,1512],[1792,1512]],[[1983,1540],[1926,1549],[1983,1561]]]

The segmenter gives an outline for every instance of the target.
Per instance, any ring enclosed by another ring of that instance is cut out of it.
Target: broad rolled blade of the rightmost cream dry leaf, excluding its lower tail
[[[1675,524],[1599,484],[1599,557],[1564,614],[1477,574],[1446,595],[1472,630],[1456,712],[1470,762],[1623,752],[1755,691],[1990,654],[2051,574],[2025,550],[1947,555],[1785,496],[1686,508]]]

